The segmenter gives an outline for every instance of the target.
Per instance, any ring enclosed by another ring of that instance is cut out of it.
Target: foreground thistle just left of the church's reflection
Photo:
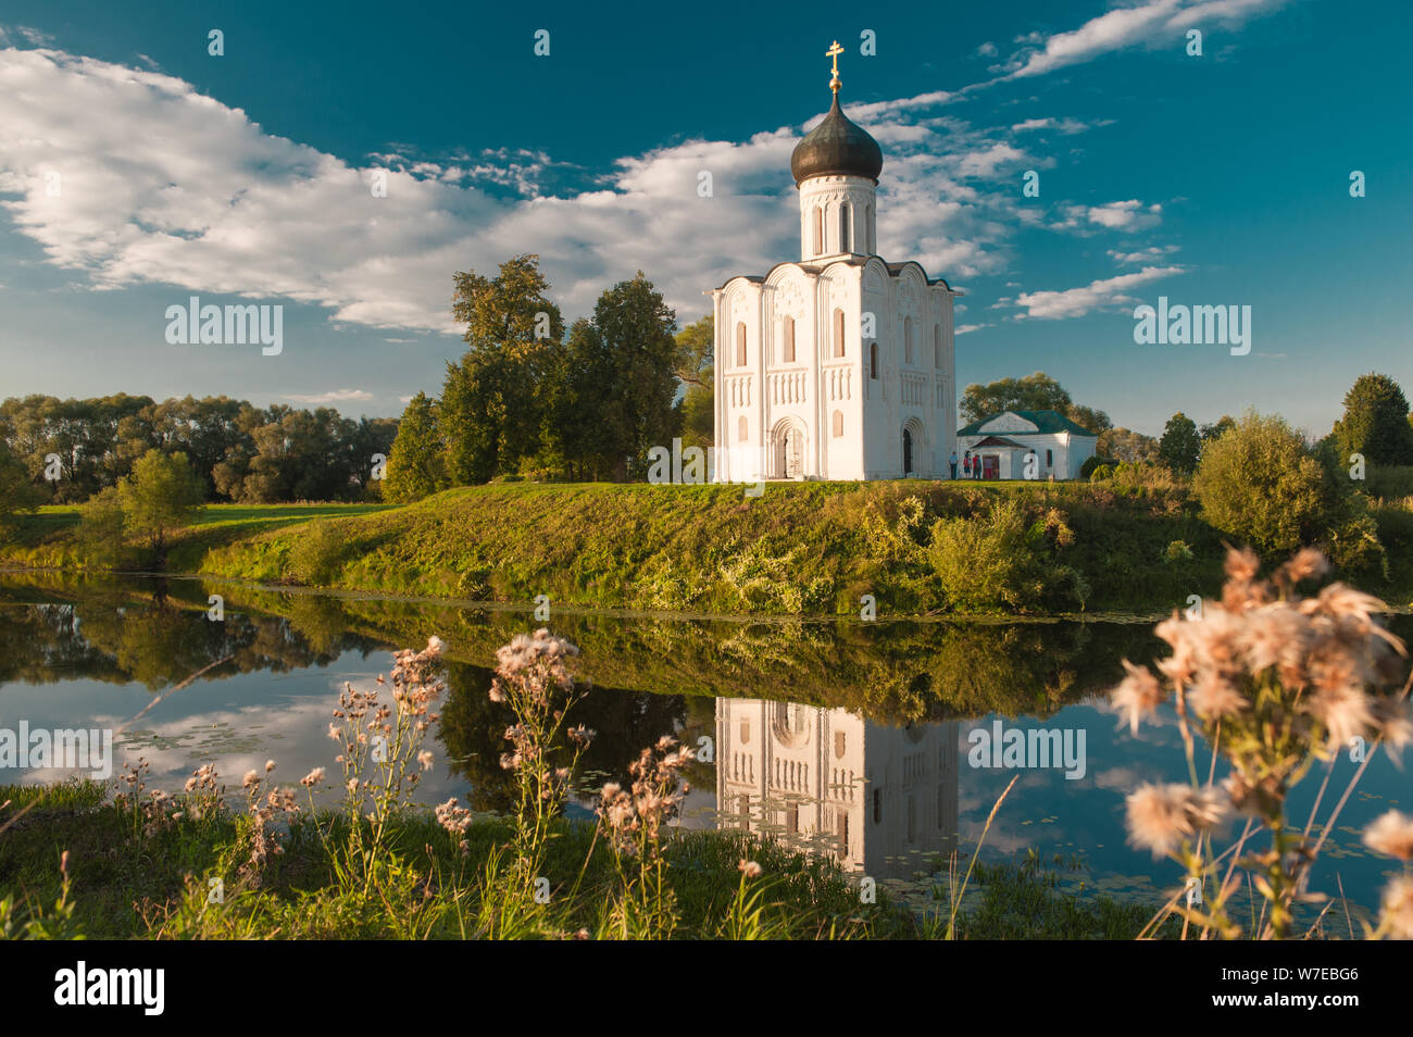
[[[619,872],[622,899],[615,921],[625,937],[670,938],[677,925],[675,899],[664,875],[664,828],[677,817],[691,786],[681,770],[694,753],[671,735],[644,749],[629,764],[629,788],[610,781],[599,793],[599,821]],[[637,875],[630,877],[630,865]],[[759,865],[755,866],[759,873]],[[743,869],[745,870],[745,869]]]

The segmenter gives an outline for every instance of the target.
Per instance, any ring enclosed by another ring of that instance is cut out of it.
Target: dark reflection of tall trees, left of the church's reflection
[[[506,728],[514,715],[506,704],[492,702],[493,670],[449,663],[448,697],[441,711],[438,737],[449,769],[471,783],[471,804],[476,810],[507,811],[514,801],[514,783],[500,766],[506,752]],[[582,723],[596,733],[581,759],[581,774],[595,784],[627,781],[627,764],[663,735],[674,733],[685,715],[680,695],[643,691],[591,688],[574,705],[569,723]]]

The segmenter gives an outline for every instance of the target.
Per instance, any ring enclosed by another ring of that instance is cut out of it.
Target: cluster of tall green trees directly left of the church
[[[516,256],[495,277],[458,273],[452,315],[466,352],[441,397],[403,413],[390,500],[506,478],[629,480],[674,437],[711,442],[711,318],[678,332],[642,271],[565,328],[538,257]]]

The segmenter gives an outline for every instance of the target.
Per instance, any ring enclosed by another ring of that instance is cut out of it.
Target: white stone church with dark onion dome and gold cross
[[[716,482],[950,475],[961,292],[877,256],[883,154],[829,88],[790,158],[800,261],[712,292]]]

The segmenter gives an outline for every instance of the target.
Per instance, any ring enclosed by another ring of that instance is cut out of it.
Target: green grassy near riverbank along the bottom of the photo
[[[373,889],[336,866],[348,825],[304,815],[259,879],[239,867],[250,853],[246,818],[189,814],[144,826],[96,783],[0,787],[0,937],[89,940],[476,940],[616,938],[605,907],[617,873],[593,825],[565,821],[550,841],[544,903],[517,900],[490,876],[510,822],[483,817],[454,845],[427,812],[400,819],[386,838]],[[32,805],[37,804],[38,805]],[[30,808],[25,812],[25,808]],[[150,829],[150,831],[148,831]],[[733,832],[682,831],[667,843],[680,921],[674,938],[917,940],[942,935],[950,906],[909,908],[859,884],[835,865]],[[746,879],[743,859],[762,873]],[[62,860],[62,865],[61,865]],[[942,876],[941,880],[944,880]],[[58,908],[55,906],[58,904]],[[1033,865],[978,867],[957,935],[964,940],[1128,940],[1150,910],[1056,889]],[[637,934],[664,935],[664,934]]]

